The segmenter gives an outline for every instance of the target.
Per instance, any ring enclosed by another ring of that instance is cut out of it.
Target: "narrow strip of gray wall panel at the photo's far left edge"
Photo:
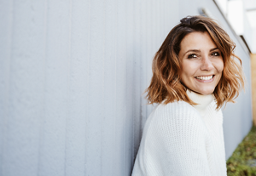
[[[9,69],[12,38],[12,1],[0,1],[0,175],[3,175],[4,145],[6,145],[8,103],[9,103]],[[3,35],[4,34],[4,35]],[[7,166],[6,166],[7,167]]]

